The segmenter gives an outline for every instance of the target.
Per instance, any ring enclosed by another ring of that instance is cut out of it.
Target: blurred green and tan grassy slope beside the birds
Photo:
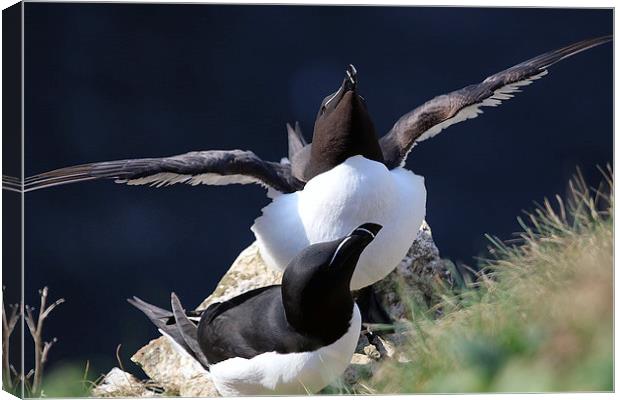
[[[612,186],[611,178],[606,182]],[[613,389],[613,198],[577,177],[545,202],[518,246],[494,241],[485,274],[443,317],[413,307],[403,351],[366,382],[372,393]],[[607,193],[609,193],[609,188]]]

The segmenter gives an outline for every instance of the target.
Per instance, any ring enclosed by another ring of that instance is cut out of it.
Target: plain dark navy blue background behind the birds
[[[206,149],[286,152],[354,63],[379,132],[431,97],[574,41],[610,10],[26,4],[26,175]],[[407,163],[426,178],[444,257],[474,264],[523,209],[612,161],[612,46],[554,66],[517,98],[451,127]],[[103,372],[157,336],[125,298],[197,305],[268,203],[260,187],[77,184],[26,195],[26,291],[63,296],[51,363]],[[29,348],[28,340],[26,347]],[[30,358],[30,357],[29,357]],[[28,358],[28,359],[29,359]],[[92,364],[91,364],[92,365]]]

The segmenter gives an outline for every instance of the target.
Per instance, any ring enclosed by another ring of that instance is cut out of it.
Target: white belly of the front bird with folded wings
[[[211,379],[222,396],[316,393],[342,375],[351,362],[361,321],[354,305],[349,330],[329,346],[305,353],[229,358],[210,366]]]

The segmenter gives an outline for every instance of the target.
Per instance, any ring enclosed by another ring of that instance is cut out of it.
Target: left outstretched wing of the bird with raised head
[[[27,178],[24,190],[28,192],[95,179],[114,179],[117,183],[156,187],[175,183],[258,183],[281,193],[303,188],[303,183],[291,174],[289,164],[263,161],[251,151],[210,150],[164,158],[105,161],[61,168]]]

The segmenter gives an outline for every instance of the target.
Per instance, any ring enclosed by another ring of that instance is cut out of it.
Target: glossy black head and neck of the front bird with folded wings
[[[348,324],[353,298],[350,282],[357,261],[382,226],[365,223],[340,239],[311,245],[289,263],[282,277],[282,300],[288,322],[298,331],[334,332]],[[345,328],[346,331],[346,328]]]

